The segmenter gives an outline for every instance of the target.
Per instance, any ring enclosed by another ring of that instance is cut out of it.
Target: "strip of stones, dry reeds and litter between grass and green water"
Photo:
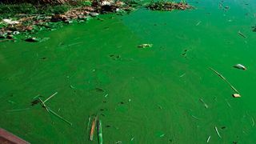
[[[64,14],[16,14],[17,20],[2,19],[6,26],[0,29],[0,42],[15,40],[17,34],[33,34],[41,30],[53,30],[63,24],[85,22],[99,14],[129,12],[133,6],[125,2],[92,2],[91,6],[74,7]],[[1,40],[2,39],[2,40]]]

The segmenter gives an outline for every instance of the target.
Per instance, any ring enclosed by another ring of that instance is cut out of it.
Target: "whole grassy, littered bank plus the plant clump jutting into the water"
[[[25,0],[0,2],[0,42],[15,41],[17,34],[35,34],[42,30],[55,30],[65,24],[86,22],[99,14],[129,14],[142,2],[111,0]],[[186,10],[186,2],[150,2],[149,10]],[[34,38],[35,39],[35,38]],[[38,41],[32,41],[38,42]]]

